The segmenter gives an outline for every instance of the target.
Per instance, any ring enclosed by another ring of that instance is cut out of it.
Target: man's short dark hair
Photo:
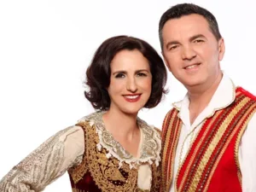
[[[201,8],[200,6],[195,5],[193,3],[182,3],[182,4],[175,5],[170,9],[167,9],[166,12],[160,18],[159,38],[160,38],[161,49],[163,49],[162,30],[166,24],[166,21],[172,20],[172,19],[178,19],[184,15],[191,15],[191,14],[197,14],[197,15],[203,16],[207,20],[210,30],[212,31],[212,34],[214,35],[214,37],[217,40],[221,38],[221,34],[218,30],[218,22],[210,11],[208,11],[207,9]]]

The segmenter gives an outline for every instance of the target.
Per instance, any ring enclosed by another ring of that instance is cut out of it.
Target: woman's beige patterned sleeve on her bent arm
[[[1,192],[38,192],[79,165],[84,154],[84,131],[71,126],[57,132],[29,154],[0,181]]]

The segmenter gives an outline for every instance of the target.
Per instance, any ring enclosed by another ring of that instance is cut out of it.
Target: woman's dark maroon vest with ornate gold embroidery
[[[119,160],[107,157],[106,148],[97,148],[99,137],[95,125],[90,125],[88,121],[78,125],[84,130],[84,157],[79,166],[68,170],[73,192],[149,191],[137,187],[136,168],[125,162],[120,166]],[[150,191],[156,192],[160,187],[160,166],[153,163],[151,169],[153,181]]]

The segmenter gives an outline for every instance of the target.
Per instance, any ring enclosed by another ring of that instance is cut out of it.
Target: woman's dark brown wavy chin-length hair
[[[86,71],[85,84],[90,90],[85,90],[84,96],[90,101],[93,108],[108,110],[111,102],[108,95],[110,63],[114,55],[123,49],[137,49],[147,58],[152,73],[152,90],[144,108],[154,108],[161,101],[163,94],[166,94],[166,67],[157,51],[139,38],[127,36],[108,38],[96,49],[96,53]]]

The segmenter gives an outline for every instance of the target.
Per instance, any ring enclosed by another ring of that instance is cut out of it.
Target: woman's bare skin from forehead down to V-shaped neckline
[[[148,102],[151,84],[148,60],[140,51],[125,49],[113,57],[108,87],[111,104],[103,115],[103,121],[114,139],[133,156],[139,155],[141,135],[137,127],[137,113]],[[139,99],[129,102],[129,96],[139,96]]]

